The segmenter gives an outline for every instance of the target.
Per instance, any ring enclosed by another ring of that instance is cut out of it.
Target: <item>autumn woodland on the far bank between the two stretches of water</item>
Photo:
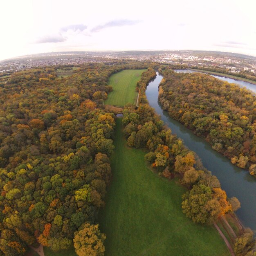
[[[163,75],[159,88],[163,109],[256,176],[255,95],[206,74],[164,70]]]

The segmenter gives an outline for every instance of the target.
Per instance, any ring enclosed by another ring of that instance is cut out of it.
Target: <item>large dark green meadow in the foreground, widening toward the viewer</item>
[[[105,233],[105,256],[226,256],[229,252],[213,226],[185,217],[185,189],[151,172],[145,152],[128,148],[117,119],[113,179],[99,215]]]

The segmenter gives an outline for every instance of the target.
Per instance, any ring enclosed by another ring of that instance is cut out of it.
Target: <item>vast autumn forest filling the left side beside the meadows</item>
[[[84,255],[75,236],[83,232],[94,247],[101,238],[96,253],[103,254],[105,236],[94,222],[114,148],[114,115],[103,109],[107,82],[120,70],[146,67],[110,64],[81,65],[63,79],[54,68],[27,70],[0,84],[0,255],[24,254],[36,242],[57,251],[74,237]]]

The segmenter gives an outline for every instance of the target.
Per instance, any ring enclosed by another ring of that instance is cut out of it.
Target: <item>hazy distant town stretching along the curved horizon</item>
[[[106,62],[109,59],[130,59],[157,63],[185,64],[189,67],[221,67],[232,73],[256,74],[256,57],[227,52],[205,51],[122,51],[122,52],[53,52],[0,61],[0,74],[52,65],[79,65]]]

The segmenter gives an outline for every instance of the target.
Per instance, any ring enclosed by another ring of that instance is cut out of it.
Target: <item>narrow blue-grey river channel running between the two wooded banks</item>
[[[158,102],[158,85],[162,78],[157,73],[156,78],[148,84],[146,97],[150,106],[155,108],[157,114],[161,116],[172,132],[183,139],[184,144],[190,150],[198,154],[204,167],[218,177],[222,189],[227,192],[227,196],[229,198],[233,196],[238,198],[241,208],[236,211],[237,216],[245,227],[250,227],[256,231],[256,178],[250,175],[247,170],[231,164],[227,157],[213,150],[208,142],[194,135],[191,130],[169,117],[168,113],[162,110],[161,104]],[[224,80],[224,77],[222,77],[222,80]],[[254,86],[256,87],[256,85]]]

